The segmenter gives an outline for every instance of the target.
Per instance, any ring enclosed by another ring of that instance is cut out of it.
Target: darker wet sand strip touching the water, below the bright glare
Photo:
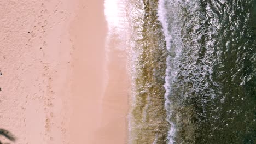
[[[106,63],[108,80],[101,101],[96,143],[127,143],[130,81],[126,71],[126,52],[118,49],[121,40],[112,37],[109,42],[109,61]]]

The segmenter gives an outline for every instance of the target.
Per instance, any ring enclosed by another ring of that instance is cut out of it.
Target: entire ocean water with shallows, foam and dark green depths
[[[129,143],[256,143],[256,1],[121,2]]]

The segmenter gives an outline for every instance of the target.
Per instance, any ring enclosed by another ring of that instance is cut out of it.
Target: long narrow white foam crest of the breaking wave
[[[178,9],[175,8],[179,1],[166,1],[160,0],[158,5],[158,20],[162,23],[162,31],[165,35],[166,48],[169,55],[166,59],[166,77],[165,77],[165,109],[167,111],[167,121],[171,127],[168,131],[168,144],[175,143],[174,137],[176,136],[176,125],[171,121],[173,116],[173,104],[168,97],[171,95],[171,87],[173,81],[176,79],[175,62],[179,58],[183,43],[181,40],[181,34],[179,33],[178,25]]]

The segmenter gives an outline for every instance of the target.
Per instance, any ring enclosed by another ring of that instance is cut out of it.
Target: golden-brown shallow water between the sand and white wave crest
[[[157,20],[157,1],[131,3],[143,12],[131,17],[135,47],[135,100],[131,110],[130,143],[166,143],[170,125],[164,107],[166,49],[161,25]]]

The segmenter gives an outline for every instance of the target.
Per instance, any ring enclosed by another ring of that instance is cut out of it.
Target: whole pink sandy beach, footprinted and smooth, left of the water
[[[0,128],[16,143],[126,143],[120,51],[103,93],[103,2],[0,1]]]

